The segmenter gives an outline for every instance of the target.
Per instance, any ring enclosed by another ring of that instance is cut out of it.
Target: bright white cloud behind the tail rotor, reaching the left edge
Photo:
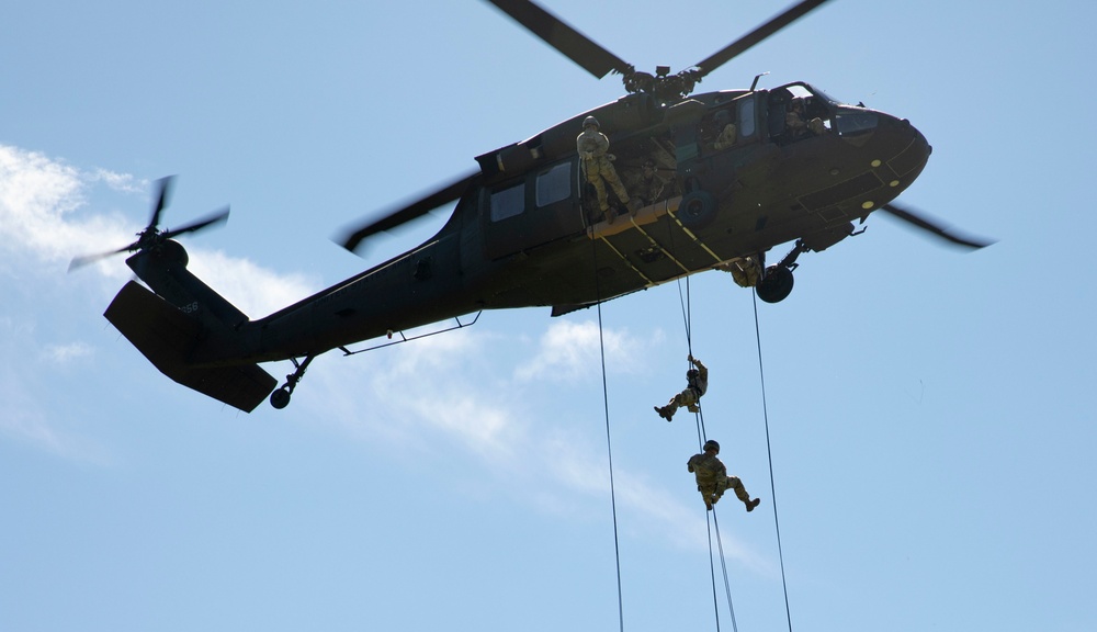
[[[66,315],[98,316],[132,273],[122,257],[72,275],[65,269],[73,255],[132,241],[133,217],[102,200],[121,193],[144,206],[149,189],[147,180],[134,176],[81,170],[41,153],[0,145],[0,289],[9,298],[0,319],[5,351],[0,354],[0,433],[69,459],[98,451],[92,441],[63,430],[71,419],[49,406],[50,393],[73,366],[89,370],[81,363],[95,353],[92,345],[73,341],[72,331],[81,326]],[[253,315],[307,296],[318,285],[304,274],[278,274],[220,252],[193,249],[191,257],[196,274],[207,275],[217,290],[223,285],[226,297]],[[89,300],[93,309],[73,312],[73,305]]]

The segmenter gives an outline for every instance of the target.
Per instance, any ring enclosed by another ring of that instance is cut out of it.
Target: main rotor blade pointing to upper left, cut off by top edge
[[[620,57],[530,0],[488,0],[488,2],[599,79],[611,70],[621,75],[633,71],[633,67]]]

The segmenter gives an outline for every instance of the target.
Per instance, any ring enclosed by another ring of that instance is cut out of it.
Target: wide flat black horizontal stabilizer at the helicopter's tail
[[[278,386],[278,381],[258,364],[189,364],[186,360],[194,347],[208,332],[203,331],[197,320],[139,283],[126,283],[104,316],[161,373],[218,402],[250,413]]]

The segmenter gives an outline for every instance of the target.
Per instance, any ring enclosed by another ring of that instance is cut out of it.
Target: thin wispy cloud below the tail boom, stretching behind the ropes
[[[634,360],[652,336],[607,328],[612,365]],[[523,340],[499,334],[446,334],[382,351],[384,359],[367,354],[338,362],[338,368],[321,364],[323,375],[310,374],[317,382],[306,392],[319,390],[310,397],[314,405],[363,440],[426,453],[428,460],[460,450],[495,473],[497,494],[522,489],[522,499],[542,511],[590,519],[591,507],[601,507],[610,494],[600,435],[569,427],[558,410],[535,410],[525,403],[552,399],[562,373],[574,380],[600,372],[598,324],[554,321],[529,360],[518,351],[525,347]],[[513,353],[484,353],[500,348]],[[510,372],[508,357],[516,357]],[[350,384],[357,387],[348,388]],[[699,499],[689,496],[683,501],[677,489],[642,472],[620,464],[615,470],[619,507],[640,517],[634,531],[687,549],[708,546],[704,523],[697,520]],[[725,549],[730,557],[766,572],[765,562],[733,538]]]

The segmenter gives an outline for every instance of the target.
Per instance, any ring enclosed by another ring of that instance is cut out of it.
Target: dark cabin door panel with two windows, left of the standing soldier
[[[480,217],[488,259],[583,233],[576,161],[531,170],[521,180],[485,189]]]

